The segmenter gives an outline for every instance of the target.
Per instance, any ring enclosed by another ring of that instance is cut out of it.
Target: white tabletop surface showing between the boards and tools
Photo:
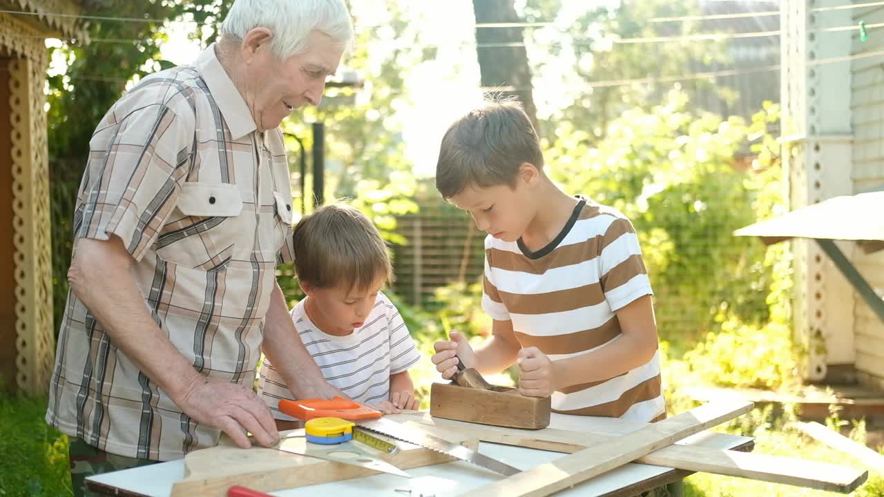
[[[556,413],[552,414],[550,422],[550,427],[552,428],[607,435],[632,432],[642,426],[644,426],[644,423],[609,417],[578,417]],[[744,446],[751,441],[751,437],[700,432],[678,443],[711,448],[734,448]],[[557,452],[487,442],[479,444],[479,452],[521,470],[528,470],[565,455]],[[616,494],[626,487],[639,484],[649,478],[660,477],[660,475],[671,471],[671,468],[629,463],[583,482],[583,484],[556,493],[556,495],[590,496]],[[370,477],[352,478],[322,485],[301,486],[290,490],[270,492],[270,494],[278,497],[301,497],[305,495],[334,495],[336,497],[348,495],[385,495],[389,497],[399,495],[405,497],[408,496],[407,492],[396,492],[396,490],[408,490],[410,488],[412,490],[410,497],[418,497],[420,495],[424,497],[430,495],[434,497],[448,497],[504,478],[502,475],[483,470],[462,461],[414,468],[408,470],[408,474],[412,476],[411,479],[381,473]],[[120,495],[169,497],[172,485],[182,478],[184,478],[184,461],[177,460],[142,466],[141,468],[133,468],[131,470],[105,473],[88,478],[88,481],[116,489]]]

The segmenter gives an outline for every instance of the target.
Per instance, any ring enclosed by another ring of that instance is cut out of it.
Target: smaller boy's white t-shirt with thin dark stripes
[[[377,294],[365,324],[347,336],[323,333],[304,311],[306,297],[291,312],[294,327],[324,378],[354,401],[375,404],[390,396],[390,375],[408,371],[420,353],[408,334],[399,310],[385,294]],[[286,381],[267,358],[261,366],[258,394],[273,417],[293,420],[279,412],[280,399],[293,400]]]

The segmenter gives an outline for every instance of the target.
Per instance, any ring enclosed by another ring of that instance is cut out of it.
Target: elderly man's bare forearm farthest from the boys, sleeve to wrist
[[[102,325],[111,343],[173,401],[202,379],[156,325],[129,270],[122,241],[79,240],[68,272],[74,294]]]

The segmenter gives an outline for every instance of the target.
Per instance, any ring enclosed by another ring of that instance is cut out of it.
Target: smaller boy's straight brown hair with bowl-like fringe
[[[294,226],[294,271],[312,287],[368,289],[378,279],[392,282],[385,241],[369,218],[354,207],[333,203]]]

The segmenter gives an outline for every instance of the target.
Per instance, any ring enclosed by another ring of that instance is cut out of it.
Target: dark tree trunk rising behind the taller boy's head
[[[520,22],[515,14],[514,0],[473,0],[476,24],[492,22]],[[516,96],[525,107],[525,112],[540,133],[537,126],[537,108],[531,95],[531,70],[528,53],[524,46],[497,46],[505,43],[524,43],[522,27],[476,27],[476,54],[479,70],[482,73],[484,88],[512,87],[513,91],[501,91],[504,96]],[[483,45],[491,44],[485,47]]]

